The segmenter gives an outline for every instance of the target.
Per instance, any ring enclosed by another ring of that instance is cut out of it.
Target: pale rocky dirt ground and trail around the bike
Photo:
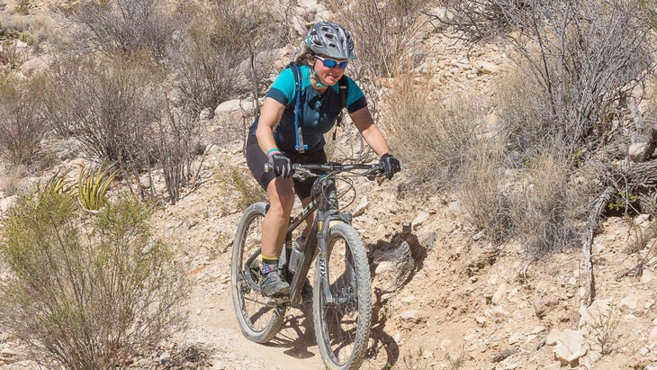
[[[437,86],[491,94],[490,81],[506,60],[500,50],[473,59],[437,35],[426,44],[440,49],[441,57],[422,67],[433,71]],[[208,125],[212,132],[221,123]],[[136,368],[323,368],[303,310],[287,312],[283,331],[270,344],[252,343],[240,333],[229,289],[230,243],[241,212],[238,189],[229,180],[233,168],[246,171],[241,142],[214,146],[200,185],[153,218],[184,262],[192,294],[187,328]],[[657,369],[655,239],[634,248],[637,232],[654,220],[601,223],[593,249],[597,299],[586,307],[580,250],[535,262],[521,277],[522,245],[492,253],[454,197],[400,193],[405,180],[401,173],[391,182],[359,183],[350,206],[363,210],[354,225],[374,271],[374,323],[364,369]],[[4,197],[0,209],[10,202]],[[403,254],[413,261],[404,266],[407,275],[392,263],[392,256]],[[0,328],[0,369],[40,368],[28,355]]]

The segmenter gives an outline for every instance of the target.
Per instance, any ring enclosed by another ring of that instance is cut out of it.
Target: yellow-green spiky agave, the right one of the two
[[[82,167],[77,181],[78,201],[87,211],[98,211],[105,203],[105,193],[118,173],[113,165],[101,163],[96,168]]]

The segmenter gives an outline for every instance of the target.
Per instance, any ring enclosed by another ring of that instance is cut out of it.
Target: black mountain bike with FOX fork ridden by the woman
[[[290,268],[291,248],[284,248],[279,271],[290,283],[284,297],[260,293],[260,239],[267,203],[247,207],[238,223],[232,247],[230,284],[238,323],[245,337],[257,343],[275,338],[283,328],[285,311],[302,303],[302,286],[314,266],[312,316],[320,355],[327,368],[356,369],[367,349],[372,295],[370,267],[363,241],[351,226],[352,216],[338,205],[337,184],[353,190],[353,176],[383,176],[379,164],[293,165],[293,177],[314,178],[311,203],[291,217],[285,236],[292,244],[305,220],[316,212],[311,233],[296,268]],[[345,193],[343,193],[345,194]],[[354,193],[355,194],[355,193]],[[296,271],[296,273],[293,273]]]

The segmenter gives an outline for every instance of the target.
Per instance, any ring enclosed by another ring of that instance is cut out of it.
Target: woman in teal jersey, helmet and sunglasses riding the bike
[[[301,78],[296,91],[295,70],[285,68],[267,92],[260,115],[249,129],[247,165],[257,182],[265,188],[270,207],[262,226],[262,275],[260,287],[266,296],[286,294],[289,284],[278,272],[278,262],[296,194],[305,206],[311,200],[312,180],[291,178],[292,164],[327,162],[324,134],[336,124],[342,107],[338,81],[351,59],[356,59],[349,32],[336,23],[312,26],[305,39],[305,50],[297,57]],[[365,142],[380,157],[385,176],[401,170],[381,131],[374,124],[363,91],[346,77],[346,108]],[[296,112],[295,112],[296,111]],[[296,122],[295,122],[296,120]],[[265,164],[274,169],[265,171]],[[312,220],[308,220],[310,225]],[[303,243],[309,229],[302,232]],[[304,291],[310,290],[306,280]]]

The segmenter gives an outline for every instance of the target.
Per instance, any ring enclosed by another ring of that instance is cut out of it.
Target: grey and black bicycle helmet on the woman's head
[[[315,54],[338,59],[356,59],[351,35],[336,23],[315,23],[306,36],[306,44]]]

